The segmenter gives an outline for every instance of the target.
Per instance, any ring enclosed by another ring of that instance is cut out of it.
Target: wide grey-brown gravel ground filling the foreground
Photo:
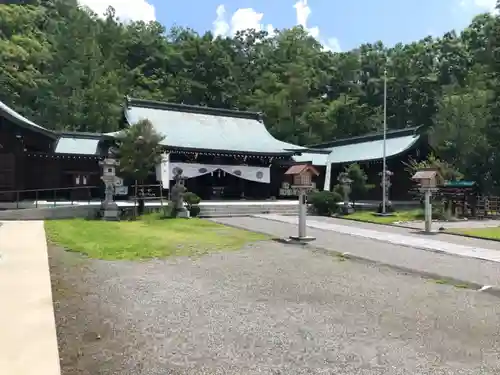
[[[198,259],[50,249],[62,374],[500,374],[493,296],[275,242]]]

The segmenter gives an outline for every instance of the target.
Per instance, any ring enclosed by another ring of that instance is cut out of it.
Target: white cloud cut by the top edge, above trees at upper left
[[[78,0],[78,3],[99,16],[112,6],[122,21],[156,21],[155,7],[148,0]]]

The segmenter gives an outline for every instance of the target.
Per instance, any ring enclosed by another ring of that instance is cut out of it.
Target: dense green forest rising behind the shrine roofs
[[[6,3],[23,5],[0,5],[0,100],[47,128],[116,130],[129,95],[261,111],[275,137],[317,143],[381,130],[387,69],[389,128],[423,126],[466,178],[500,185],[499,16],[331,53],[300,27],[214,38],[76,0]]]

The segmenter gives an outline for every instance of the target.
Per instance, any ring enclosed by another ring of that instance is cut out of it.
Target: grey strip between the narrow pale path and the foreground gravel
[[[262,217],[217,218],[212,221],[242,229],[267,233],[274,237],[297,234],[293,223],[269,220]],[[354,225],[357,223],[353,223]],[[388,227],[391,228],[391,227]],[[391,228],[392,229],[392,228]],[[401,228],[394,228],[401,229]],[[309,246],[334,253],[350,253],[351,257],[388,265],[405,272],[413,272],[434,279],[446,279],[471,287],[494,286],[490,292],[497,294],[500,286],[500,263],[477,258],[450,255],[444,252],[424,251],[408,244],[397,245],[382,240],[339,233],[332,230],[308,228],[308,235],[316,238]],[[460,239],[460,237],[457,237]]]

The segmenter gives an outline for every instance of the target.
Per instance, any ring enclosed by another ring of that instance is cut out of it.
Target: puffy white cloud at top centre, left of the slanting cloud
[[[273,34],[274,27],[271,24],[263,24],[264,13],[258,13],[252,8],[240,8],[233,13],[229,22],[226,18],[226,8],[219,5],[216,10],[217,17],[213,22],[215,36],[234,35],[240,30],[255,29],[265,30]]]

